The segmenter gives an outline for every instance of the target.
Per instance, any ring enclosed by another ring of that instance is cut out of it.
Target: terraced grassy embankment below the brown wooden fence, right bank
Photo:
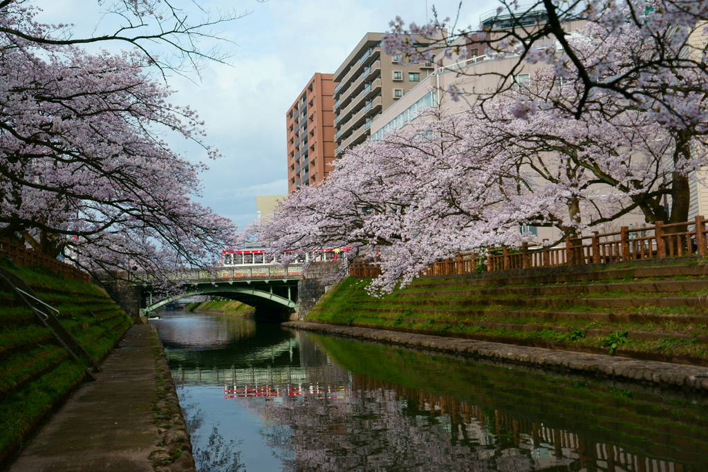
[[[697,258],[421,277],[381,298],[348,278],[307,321],[708,366]]]

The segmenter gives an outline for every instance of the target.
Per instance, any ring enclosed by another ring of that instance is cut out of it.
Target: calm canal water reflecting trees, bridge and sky
[[[708,398],[233,316],[157,327],[201,471],[708,471]]]

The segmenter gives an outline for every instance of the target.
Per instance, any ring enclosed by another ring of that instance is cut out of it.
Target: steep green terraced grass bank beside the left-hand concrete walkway
[[[105,357],[132,321],[103,289],[44,269],[3,265],[40,299],[96,361]],[[21,447],[40,420],[83,379],[85,362],[58,345],[14,294],[0,292],[0,463]]]

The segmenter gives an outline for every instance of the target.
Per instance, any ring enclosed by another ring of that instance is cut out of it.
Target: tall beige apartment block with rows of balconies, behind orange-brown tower
[[[366,33],[333,74],[336,156],[364,142],[375,116],[425,80],[433,64],[403,64],[381,49],[383,33]]]

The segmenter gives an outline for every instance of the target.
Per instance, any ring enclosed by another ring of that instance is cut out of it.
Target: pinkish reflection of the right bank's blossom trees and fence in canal
[[[311,379],[315,381],[316,379]],[[251,408],[285,469],[697,471],[613,444],[353,375],[347,396],[269,399]]]

